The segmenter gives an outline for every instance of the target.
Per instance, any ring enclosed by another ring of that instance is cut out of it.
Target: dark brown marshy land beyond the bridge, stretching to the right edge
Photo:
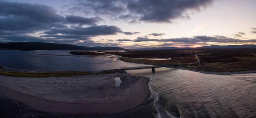
[[[184,64],[184,68],[203,71],[256,70],[256,49],[135,50],[127,52],[70,52],[73,55],[118,55],[120,60],[151,65]],[[200,59],[198,63],[197,58]],[[141,59],[145,58],[145,59]],[[147,58],[171,58],[157,60]]]

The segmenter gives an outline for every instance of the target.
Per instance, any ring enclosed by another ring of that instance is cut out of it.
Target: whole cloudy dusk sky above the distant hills
[[[256,44],[256,0],[0,0],[0,42]]]

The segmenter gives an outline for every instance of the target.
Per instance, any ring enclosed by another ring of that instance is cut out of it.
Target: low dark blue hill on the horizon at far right
[[[219,45],[212,45],[212,46],[202,46],[198,48],[256,48],[256,45],[253,44],[244,44],[244,45],[227,45],[227,46],[219,46]]]

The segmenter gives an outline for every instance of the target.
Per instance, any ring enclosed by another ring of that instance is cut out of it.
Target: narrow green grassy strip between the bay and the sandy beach
[[[92,75],[92,74],[111,74],[116,73],[116,70],[102,71],[102,72],[12,72],[0,71],[0,75],[15,76],[15,77],[62,77],[62,76],[78,76],[78,75]]]

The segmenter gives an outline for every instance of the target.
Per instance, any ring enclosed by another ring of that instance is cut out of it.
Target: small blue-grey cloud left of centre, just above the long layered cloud
[[[68,21],[68,23],[71,23],[71,24],[96,25],[97,22],[103,19],[99,17],[85,18],[80,16],[68,15],[66,16],[66,20]]]

